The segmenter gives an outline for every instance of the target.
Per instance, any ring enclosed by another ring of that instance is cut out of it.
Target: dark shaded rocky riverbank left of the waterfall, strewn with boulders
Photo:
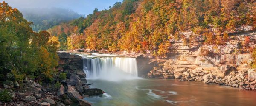
[[[58,53],[60,58],[58,74],[66,73],[67,79],[55,78],[52,82],[32,81],[28,77],[23,82],[5,81],[0,90],[6,89],[12,96],[12,102],[0,102],[1,106],[90,106],[83,98],[101,95],[101,89],[90,88],[83,72],[82,58],[69,53]],[[60,83],[59,83],[60,82]],[[2,96],[2,95],[1,95]]]

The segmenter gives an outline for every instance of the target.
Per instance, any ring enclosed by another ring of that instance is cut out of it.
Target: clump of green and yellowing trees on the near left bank
[[[57,42],[36,33],[16,8],[0,3],[0,81],[52,80],[58,65]]]

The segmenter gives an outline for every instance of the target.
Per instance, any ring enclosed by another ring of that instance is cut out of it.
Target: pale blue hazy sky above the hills
[[[66,8],[71,9],[78,14],[92,14],[95,8],[98,10],[104,10],[113,6],[116,2],[122,2],[122,0],[0,0],[5,1],[12,8]]]

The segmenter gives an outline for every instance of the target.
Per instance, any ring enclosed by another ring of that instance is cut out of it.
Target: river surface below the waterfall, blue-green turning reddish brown
[[[256,106],[256,92],[165,79],[88,80],[103,95],[84,98],[93,106]]]

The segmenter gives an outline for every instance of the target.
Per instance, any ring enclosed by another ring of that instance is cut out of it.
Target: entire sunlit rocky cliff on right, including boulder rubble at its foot
[[[194,33],[183,34],[189,37]],[[147,71],[148,74],[145,76],[147,78],[176,78],[182,81],[204,81],[208,84],[255,89],[256,72],[250,69],[253,61],[252,55],[242,53],[241,45],[244,44],[246,36],[249,36],[250,42],[247,47],[255,47],[256,31],[241,31],[229,35],[230,41],[219,46],[204,45],[202,38],[198,38],[197,42],[191,42],[189,45],[184,45],[183,41],[173,40],[173,54],[165,59],[157,59],[154,68],[150,72]]]

